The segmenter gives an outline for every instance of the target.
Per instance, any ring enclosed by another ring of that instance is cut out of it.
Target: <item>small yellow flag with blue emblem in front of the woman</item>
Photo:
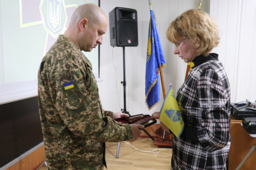
[[[172,133],[177,138],[180,138],[180,135],[184,129],[184,122],[182,120],[180,109],[173,93],[172,84],[170,84],[166,98],[163,101],[159,119],[169,128],[169,130],[172,131]]]

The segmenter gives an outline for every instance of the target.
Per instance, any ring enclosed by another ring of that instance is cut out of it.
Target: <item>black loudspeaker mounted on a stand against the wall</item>
[[[109,12],[111,46],[138,46],[137,10],[116,7]]]

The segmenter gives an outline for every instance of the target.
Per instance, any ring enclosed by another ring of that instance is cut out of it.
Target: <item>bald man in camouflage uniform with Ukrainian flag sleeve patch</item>
[[[135,141],[144,126],[120,124],[128,116],[102,109],[90,52],[102,44],[108,20],[96,5],[79,6],[64,35],[38,71],[38,102],[48,170],[102,170],[105,142]]]

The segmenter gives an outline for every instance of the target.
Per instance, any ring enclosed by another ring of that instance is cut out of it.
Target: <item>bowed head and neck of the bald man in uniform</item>
[[[90,52],[98,44],[102,44],[107,29],[108,18],[102,9],[93,3],[86,3],[74,11],[63,35],[79,49]]]

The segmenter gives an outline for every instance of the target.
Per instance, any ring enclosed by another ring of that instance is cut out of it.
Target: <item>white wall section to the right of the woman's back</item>
[[[256,0],[211,0],[210,15],[221,30],[219,54],[231,87],[231,102],[256,100]]]

